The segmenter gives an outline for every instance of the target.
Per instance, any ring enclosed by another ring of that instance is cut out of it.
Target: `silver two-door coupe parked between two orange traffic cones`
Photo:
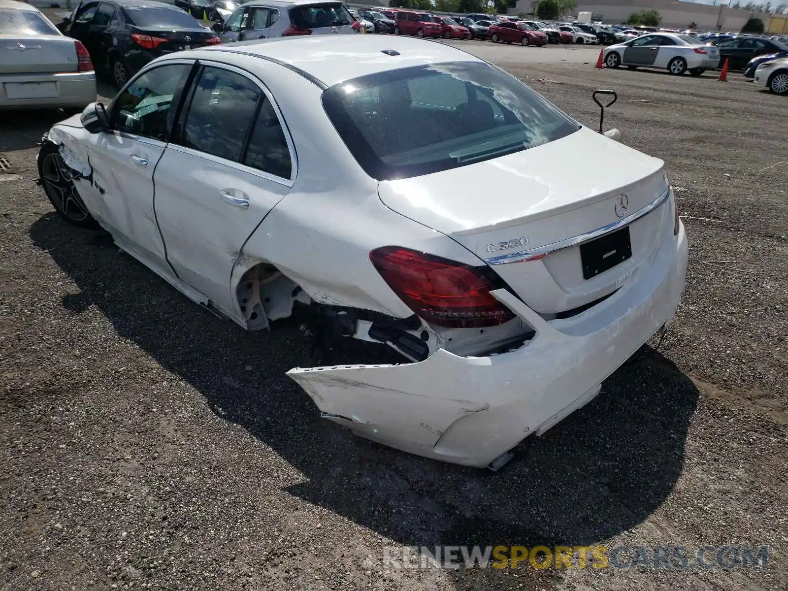
[[[674,33],[643,35],[611,45],[604,48],[602,56],[608,68],[626,65],[629,69],[667,69],[677,76],[687,70],[693,76],[701,76],[707,69],[716,68],[719,64],[719,49],[715,46],[704,45],[689,35]]]

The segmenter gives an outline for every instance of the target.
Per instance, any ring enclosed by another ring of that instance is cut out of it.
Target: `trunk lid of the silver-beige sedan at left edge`
[[[76,45],[62,35],[0,35],[0,74],[76,72]]]

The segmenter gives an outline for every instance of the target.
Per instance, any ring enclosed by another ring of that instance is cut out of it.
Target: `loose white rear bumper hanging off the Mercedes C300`
[[[683,226],[631,284],[574,318],[546,322],[504,289],[492,292],[536,335],[489,357],[440,349],[418,363],[290,370],[325,418],[393,448],[485,467],[582,407],[601,382],[671,321],[684,289]],[[623,310],[623,311],[622,311]]]

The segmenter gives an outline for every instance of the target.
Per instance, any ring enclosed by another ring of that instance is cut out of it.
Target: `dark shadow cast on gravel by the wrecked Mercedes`
[[[603,392],[497,474],[358,440],[322,422],[284,376],[305,362],[294,329],[245,333],[180,296],[92,232],[46,214],[32,226],[80,294],[132,340],[303,472],[287,492],[403,545],[590,545],[637,526],[682,468],[698,392],[660,355],[624,366]],[[55,305],[58,305],[55,303]],[[252,365],[255,370],[245,370]],[[522,576],[552,577],[547,571]],[[504,571],[466,571],[458,589],[503,589]],[[498,580],[500,578],[500,580]]]

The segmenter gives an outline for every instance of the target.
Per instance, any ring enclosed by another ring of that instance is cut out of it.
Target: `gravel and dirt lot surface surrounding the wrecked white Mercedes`
[[[786,589],[788,99],[738,73],[510,50],[501,65],[586,125],[590,92],[619,92],[606,126],[667,163],[690,263],[660,354],[498,474],[321,422],[284,377],[295,330],[243,333],[65,225],[35,185],[60,116],[2,116],[19,177],[0,182],[0,589]],[[771,553],[750,570],[382,568],[384,546],[436,544]]]

